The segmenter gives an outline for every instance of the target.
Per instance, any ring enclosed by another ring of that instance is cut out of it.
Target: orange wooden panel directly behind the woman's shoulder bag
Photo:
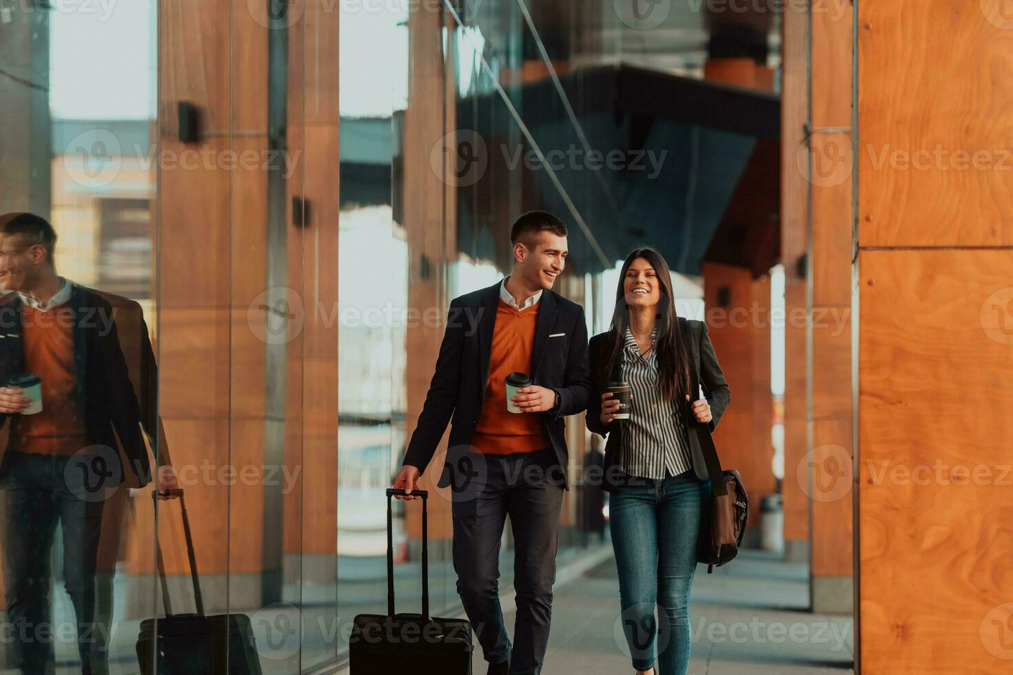
[[[704,303],[714,345],[732,404],[714,432],[721,465],[736,469],[759,505],[777,491],[774,479],[774,397],[770,391],[770,277],[714,262],[703,266]],[[727,296],[728,305],[720,297]],[[759,541],[760,509],[750,511],[747,544]]]

